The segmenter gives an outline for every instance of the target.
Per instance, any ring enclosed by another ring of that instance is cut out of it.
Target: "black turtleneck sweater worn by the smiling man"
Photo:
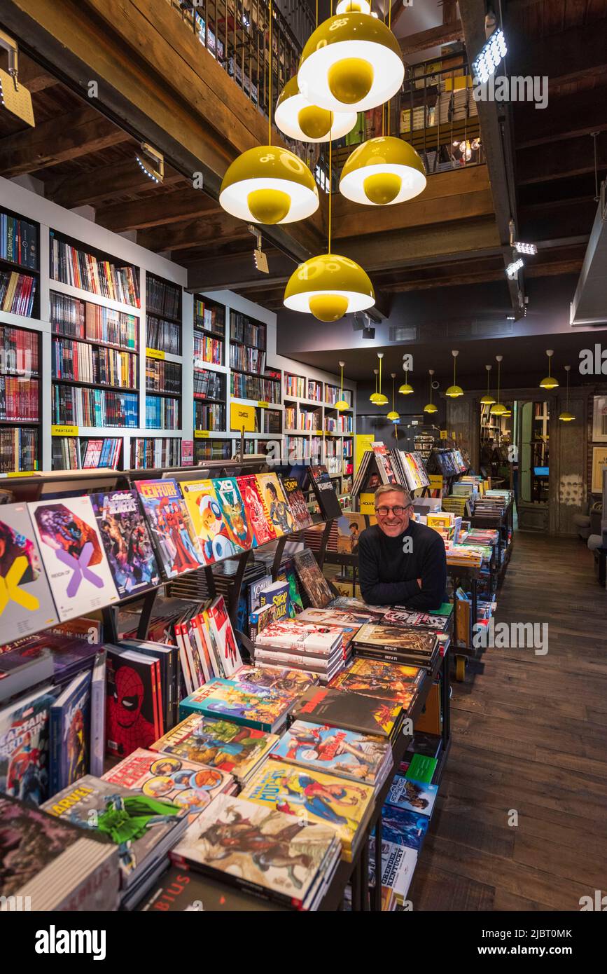
[[[406,554],[407,538],[411,551]],[[445,542],[425,524],[410,521],[397,538],[388,538],[376,524],[366,528],[358,542],[358,566],[361,592],[371,605],[427,611],[446,600]]]

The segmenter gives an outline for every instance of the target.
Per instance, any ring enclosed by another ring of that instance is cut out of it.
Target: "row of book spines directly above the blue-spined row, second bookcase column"
[[[139,383],[137,356],[117,349],[95,348],[70,338],[55,338],[53,378],[135,389]]]

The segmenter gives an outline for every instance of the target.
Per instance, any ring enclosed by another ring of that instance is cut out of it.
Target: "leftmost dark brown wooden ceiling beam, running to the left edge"
[[[0,171],[7,179],[119,145],[130,136],[89,105],[0,140]]]

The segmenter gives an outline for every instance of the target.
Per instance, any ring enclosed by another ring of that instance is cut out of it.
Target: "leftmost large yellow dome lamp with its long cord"
[[[219,204],[247,223],[295,223],[311,216],[319,206],[314,177],[294,152],[271,144],[271,33],[269,3],[268,145],[237,156],[226,172]]]

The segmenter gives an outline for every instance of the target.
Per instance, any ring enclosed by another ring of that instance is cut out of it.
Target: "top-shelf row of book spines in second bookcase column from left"
[[[139,278],[129,264],[117,266],[109,260],[99,260],[87,250],[51,238],[51,277],[92,294],[101,294],[111,301],[140,307]]]

